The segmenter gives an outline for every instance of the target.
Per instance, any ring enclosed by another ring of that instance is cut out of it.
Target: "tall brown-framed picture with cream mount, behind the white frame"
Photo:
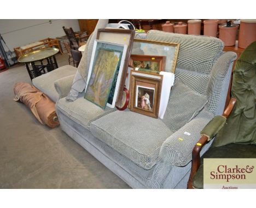
[[[98,29],[98,32],[97,32],[97,40],[117,42],[119,44],[127,45],[127,53],[124,60],[124,69],[121,75],[119,91],[117,95],[117,105],[120,105],[121,99],[123,97],[123,89],[125,85],[126,73],[129,65],[129,58],[131,55],[134,35],[135,35],[135,30],[131,30],[131,29],[103,28],[103,29]]]

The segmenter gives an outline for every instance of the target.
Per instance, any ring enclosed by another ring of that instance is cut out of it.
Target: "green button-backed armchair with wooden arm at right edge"
[[[256,158],[256,41],[236,62],[231,96],[223,115],[201,131],[192,153],[188,188],[203,188],[203,158]],[[214,136],[211,148],[200,158],[202,147]]]

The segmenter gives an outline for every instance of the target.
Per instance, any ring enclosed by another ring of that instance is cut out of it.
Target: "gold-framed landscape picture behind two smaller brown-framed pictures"
[[[132,54],[148,56],[165,56],[165,71],[174,74],[179,52],[179,44],[174,42],[134,39]]]

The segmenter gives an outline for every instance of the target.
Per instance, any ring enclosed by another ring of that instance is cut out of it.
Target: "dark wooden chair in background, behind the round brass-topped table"
[[[83,39],[88,39],[90,35],[75,35],[72,27],[62,27],[64,32],[67,35],[67,38],[69,40],[70,43],[70,48],[71,49],[75,49],[78,50],[78,48],[80,47],[80,43],[82,42]]]

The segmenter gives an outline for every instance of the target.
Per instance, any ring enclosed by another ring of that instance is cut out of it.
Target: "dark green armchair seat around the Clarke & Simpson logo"
[[[256,158],[256,145],[227,144],[218,147],[211,146],[201,157],[201,166],[193,177],[194,188],[203,188],[203,158]]]

